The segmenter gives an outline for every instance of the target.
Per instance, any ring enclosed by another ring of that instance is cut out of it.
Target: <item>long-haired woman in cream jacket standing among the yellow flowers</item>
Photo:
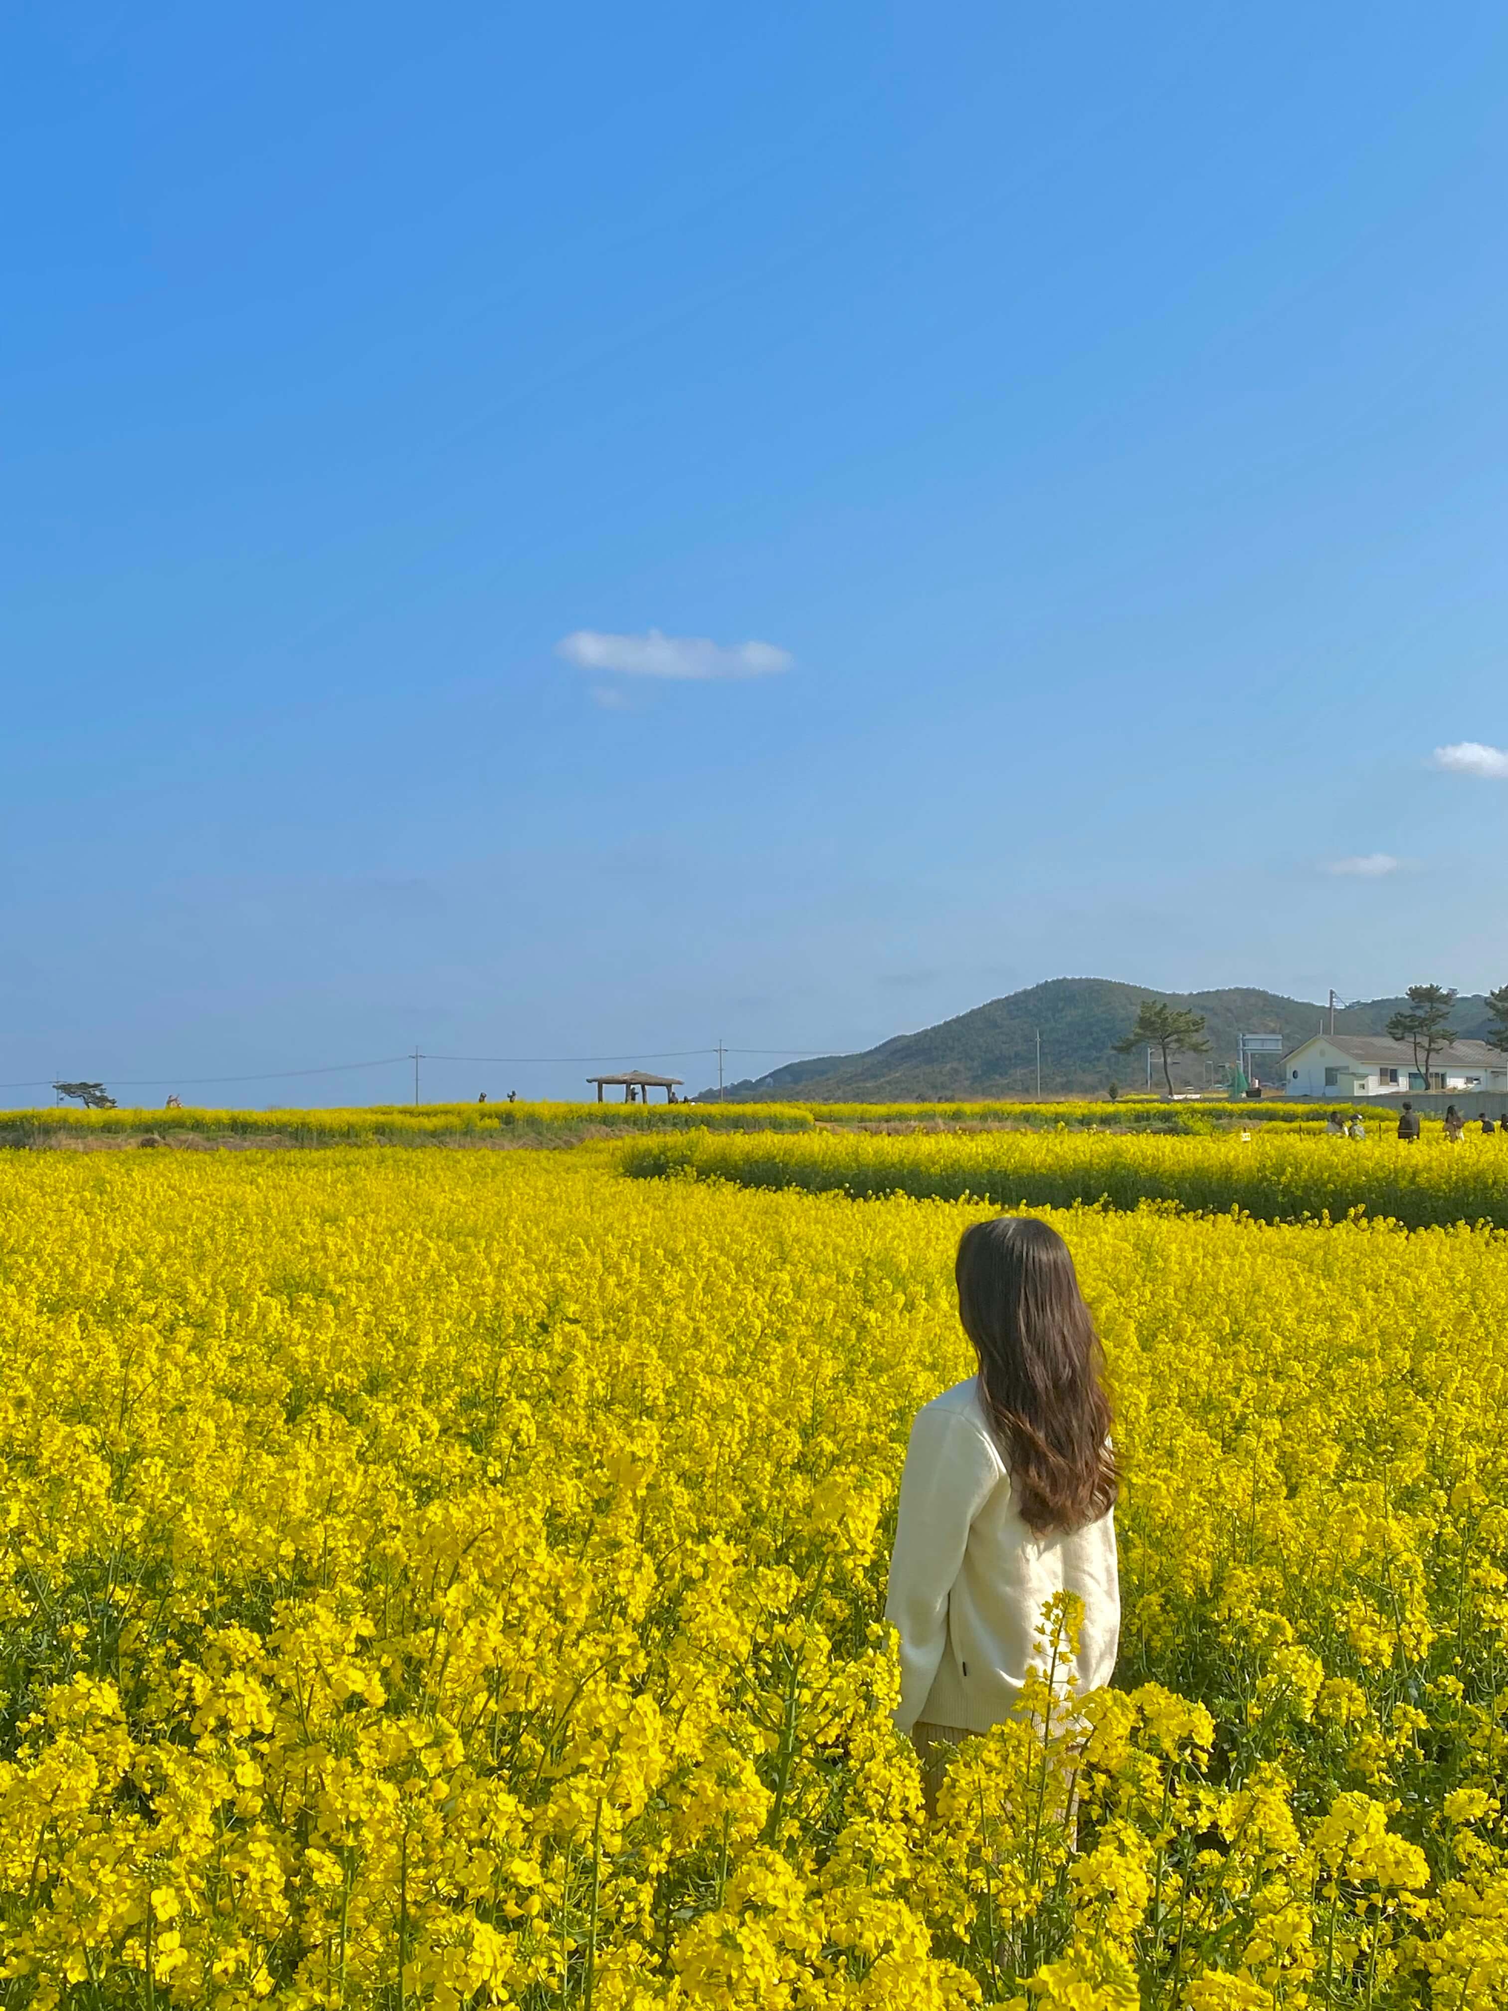
[[[1056,1593],[1084,1607],[1078,1689],[1120,1645],[1116,1460],[1104,1351],[1068,1245],[999,1215],[963,1231],[959,1319],[979,1367],[917,1412],[885,1617],[901,1637],[895,1723],[935,1810],[947,1756],[1011,1717]]]

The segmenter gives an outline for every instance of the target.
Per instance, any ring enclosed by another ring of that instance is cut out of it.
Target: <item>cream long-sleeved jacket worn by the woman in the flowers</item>
[[[1042,1607],[1078,1593],[1078,1691],[1110,1681],[1120,1643],[1114,1512],[1038,1536],[1015,1510],[973,1378],[911,1426],[885,1619],[901,1635],[901,1705],[917,1719],[989,1731],[1011,1715]]]

